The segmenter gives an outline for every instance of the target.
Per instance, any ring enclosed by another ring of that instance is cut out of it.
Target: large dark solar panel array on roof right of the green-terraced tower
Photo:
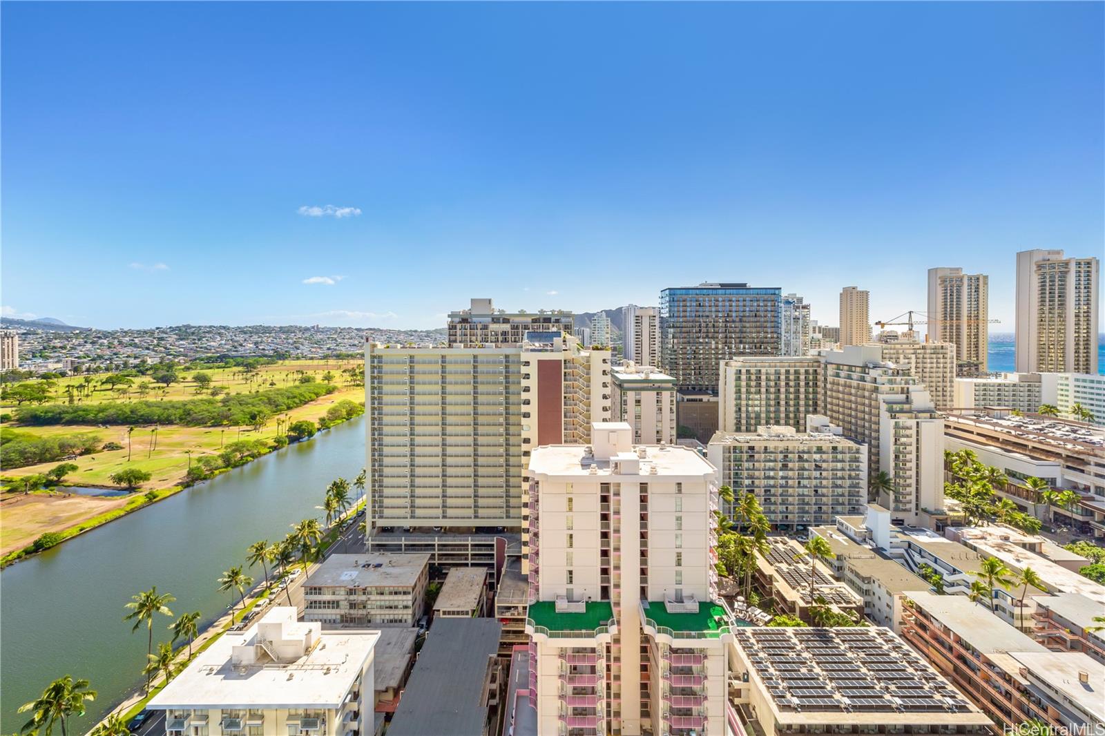
[[[781,711],[958,713],[966,700],[888,629],[734,631]]]

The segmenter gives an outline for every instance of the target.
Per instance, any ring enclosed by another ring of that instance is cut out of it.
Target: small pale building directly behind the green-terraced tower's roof
[[[613,420],[633,428],[634,444],[675,442],[675,379],[649,366],[614,368]]]

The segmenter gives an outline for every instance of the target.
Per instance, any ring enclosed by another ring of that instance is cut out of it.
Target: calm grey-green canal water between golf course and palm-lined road
[[[245,547],[319,516],[329,482],[360,472],[364,423],[343,422],[0,572],[0,734],[19,732],[27,714],[17,708],[66,674],[98,692],[70,722],[71,734],[91,728],[143,680],[146,628],[131,633],[123,622],[130,596],[157,586],[176,596],[175,614],[219,618],[230,597],[217,580],[244,564]],[[264,575],[260,566],[248,572]],[[169,623],[155,619],[155,649],[172,637]]]

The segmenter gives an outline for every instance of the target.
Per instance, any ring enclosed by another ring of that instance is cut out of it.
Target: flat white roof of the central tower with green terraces
[[[596,422],[596,430],[606,429],[608,422]],[[615,427],[621,424],[614,423]],[[638,454],[644,450],[644,456]],[[714,466],[691,448],[671,444],[634,444],[633,458],[640,459],[640,475],[703,476],[713,474]],[[537,448],[529,458],[529,471],[544,475],[612,475],[609,460],[597,460],[581,444],[549,444]],[[655,469],[655,473],[652,472]]]

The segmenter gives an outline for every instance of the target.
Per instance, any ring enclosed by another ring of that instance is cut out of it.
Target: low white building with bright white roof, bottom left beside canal
[[[372,732],[376,632],[323,631],[276,607],[228,632],[147,707],[165,711],[166,736]]]

